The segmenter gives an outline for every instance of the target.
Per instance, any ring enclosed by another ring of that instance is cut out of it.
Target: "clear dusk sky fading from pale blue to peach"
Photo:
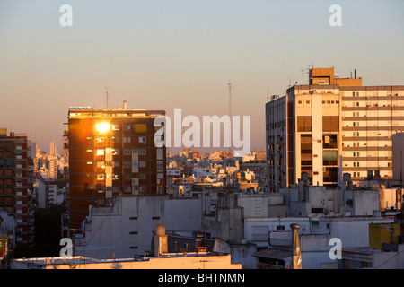
[[[229,115],[231,81],[231,114],[250,116],[250,147],[265,149],[267,96],[307,83],[310,65],[403,85],[403,12],[402,0],[0,0],[0,127],[60,152],[68,108],[106,108],[105,87],[110,107],[202,118]]]

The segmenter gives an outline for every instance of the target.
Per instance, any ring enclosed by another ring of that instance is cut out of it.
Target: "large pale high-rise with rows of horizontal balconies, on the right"
[[[311,68],[308,84],[295,84],[266,104],[268,189],[290,187],[307,172],[312,185],[391,178],[391,137],[404,131],[404,86],[363,86],[334,68]]]

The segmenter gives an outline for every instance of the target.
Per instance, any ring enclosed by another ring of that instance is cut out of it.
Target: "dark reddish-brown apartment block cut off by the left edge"
[[[0,128],[0,212],[13,215],[16,222],[16,244],[33,240],[33,222],[29,189],[33,169],[28,158],[26,135],[7,135]]]

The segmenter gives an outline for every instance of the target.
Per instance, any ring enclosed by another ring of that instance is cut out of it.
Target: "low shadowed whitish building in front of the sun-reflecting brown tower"
[[[198,231],[200,199],[169,196],[116,196],[113,206],[91,206],[82,232],[75,233],[75,256],[127,258],[151,250],[155,226]]]

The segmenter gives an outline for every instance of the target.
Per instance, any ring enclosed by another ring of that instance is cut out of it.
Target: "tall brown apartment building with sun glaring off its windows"
[[[70,108],[68,111],[70,225],[89,205],[114,195],[165,194],[165,147],[154,145],[154,118],[165,111]]]

